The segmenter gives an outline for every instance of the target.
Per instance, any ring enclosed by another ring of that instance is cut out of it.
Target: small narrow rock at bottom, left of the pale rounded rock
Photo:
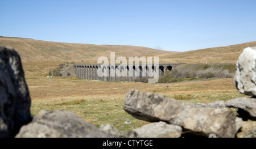
[[[118,138],[136,138],[138,136],[135,131],[119,131],[116,127],[109,124],[101,124],[100,130],[106,131],[106,133],[115,135]]]

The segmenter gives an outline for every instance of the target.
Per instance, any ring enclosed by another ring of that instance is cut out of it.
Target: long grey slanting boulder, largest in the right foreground
[[[198,135],[235,137],[236,114],[227,108],[207,108],[170,99],[157,93],[129,91],[123,109],[144,121],[165,121],[191,130]]]

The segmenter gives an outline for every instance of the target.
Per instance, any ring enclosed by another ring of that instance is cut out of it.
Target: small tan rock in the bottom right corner
[[[256,138],[256,121],[243,121],[241,132],[237,138]]]

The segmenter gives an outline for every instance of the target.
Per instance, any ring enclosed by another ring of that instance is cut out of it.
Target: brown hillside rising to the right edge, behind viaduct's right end
[[[256,46],[256,41],[216,48],[191,50],[175,54],[167,53],[160,55],[159,59],[166,63],[236,63],[242,50],[248,46]]]

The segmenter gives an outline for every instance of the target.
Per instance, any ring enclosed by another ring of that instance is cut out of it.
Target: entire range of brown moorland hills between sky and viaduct
[[[188,52],[168,52],[130,45],[71,44],[3,36],[0,36],[0,45],[13,47],[20,54],[22,62],[97,63],[98,57],[105,56],[110,59],[110,52],[115,52],[115,57],[158,56],[159,63],[236,63],[242,50],[248,46],[256,46],[256,41]]]

